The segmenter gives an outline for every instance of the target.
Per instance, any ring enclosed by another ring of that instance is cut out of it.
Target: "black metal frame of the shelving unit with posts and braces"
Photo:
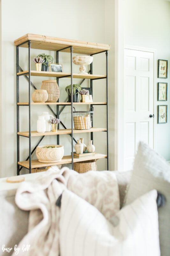
[[[20,44],[22,45],[22,44]],[[16,46],[16,87],[17,87],[17,103],[19,103],[19,75],[17,75],[17,73],[19,72],[19,70],[22,72],[22,68],[19,66],[19,46]],[[75,140],[75,138],[73,137],[73,47],[69,46],[66,48],[70,48],[70,66],[71,66],[71,134],[69,134],[71,136],[71,166],[73,169],[73,140],[77,143],[77,141]],[[59,51],[62,51],[66,48],[63,48],[61,50],[56,51],[56,63],[59,63]],[[28,40],[28,74],[25,74],[25,78],[28,81],[28,90],[29,90],[29,104],[27,105],[29,107],[29,156],[26,158],[26,161],[29,160],[29,173],[31,173],[31,155],[33,154],[33,152],[35,151],[36,147],[40,144],[40,142],[43,140],[43,138],[45,136],[42,136],[41,139],[38,141],[37,145],[33,148],[33,150],[31,151],[31,86],[36,90],[37,88],[34,86],[34,84],[31,82],[31,57],[30,57],[30,51],[31,51],[31,41]],[[108,170],[108,51],[102,51],[102,52],[106,52],[106,106],[107,106],[107,170]],[[101,53],[101,52],[98,52]],[[95,55],[98,53],[94,53],[91,54]],[[88,72],[88,74],[92,74],[92,63],[90,64],[90,70]],[[28,76],[27,76],[28,75]],[[65,77],[65,76],[64,76]],[[67,76],[66,76],[67,77]],[[57,77],[57,84],[59,86],[59,78],[63,78],[63,77]],[[90,79],[90,88],[92,90],[92,95],[93,95],[93,80],[97,80],[97,79],[101,79],[101,78],[93,78]],[[85,81],[85,78],[81,81],[80,85]],[[57,100],[57,102],[59,102],[59,99]],[[18,105],[17,104],[17,175],[19,175],[19,172],[21,171],[21,169],[23,168],[23,166],[20,167],[20,165],[18,164],[19,162],[19,137],[22,135],[19,135],[19,107],[20,106],[25,106],[25,105]],[[57,118],[59,118],[61,112],[63,111],[63,109],[66,106],[69,105],[64,105],[60,110],[59,110],[59,105],[56,105],[56,113],[53,111],[53,109],[49,106],[46,105],[51,112],[53,113],[54,116],[56,116]],[[90,107],[93,107],[93,104],[90,105]],[[63,126],[64,129],[67,129],[66,126],[63,124],[63,122],[61,121],[60,124]],[[92,124],[93,127],[93,124]],[[59,129],[59,124],[58,124],[58,129]],[[25,136],[23,136],[25,137]],[[93,132],[91,132],[91,140],[93,140]],[[60,144],[60,137],[59,134],[57,134],[57,144]]]

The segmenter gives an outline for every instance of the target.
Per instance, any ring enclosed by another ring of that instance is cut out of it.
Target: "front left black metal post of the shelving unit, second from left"
[[[28,41],[28,86],[29,86],[29,173],[31,173],[31,41]]]

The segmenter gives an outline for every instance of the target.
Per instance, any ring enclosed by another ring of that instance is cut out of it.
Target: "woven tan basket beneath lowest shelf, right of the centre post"
[[[74,163],[74,171],[78,173],[84,173],[88,171],[97,171],[96,160],[88,160]]]

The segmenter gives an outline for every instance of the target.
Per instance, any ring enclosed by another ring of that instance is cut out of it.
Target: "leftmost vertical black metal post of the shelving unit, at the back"
[[[19,72],[19,46],[16,47],[16,73]],[[17,74],[16,74],[17,75]],[[19,102],[19,76],[17,76],[17,103]],[[17,104],[17,175],[19,175],[19,105]]]

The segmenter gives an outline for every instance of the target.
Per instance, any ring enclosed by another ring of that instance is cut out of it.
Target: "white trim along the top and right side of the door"
[[[156,127],[157,127],[157,52],[156,49],[125,45],[125,49],[152,52],[153,53],[153,149],[156,150]]]

